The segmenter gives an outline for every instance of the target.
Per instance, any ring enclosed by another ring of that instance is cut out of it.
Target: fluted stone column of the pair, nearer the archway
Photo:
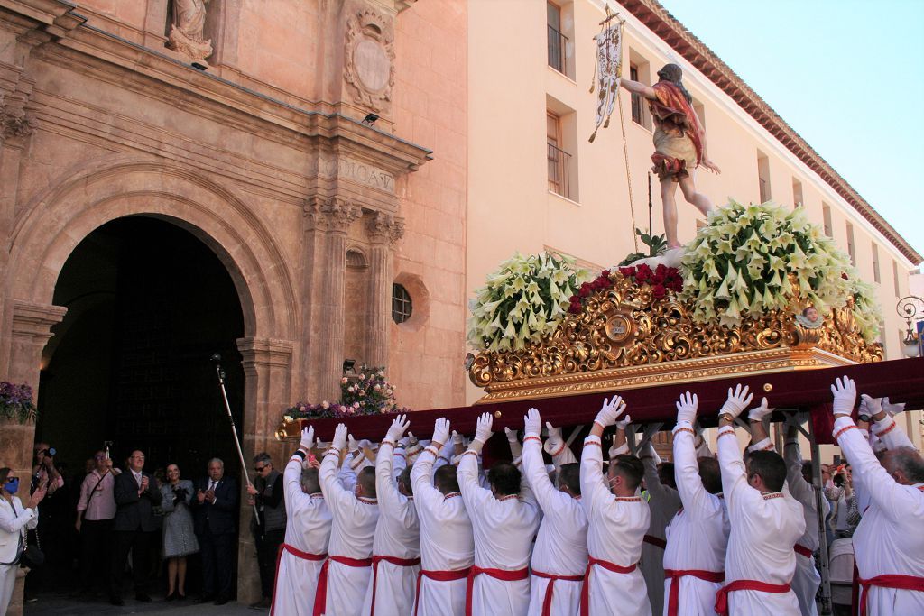
[[[337,400],[344,361],[344,274],[346,272],[346,230],[362,215],[362,210],[334,197],[322,206],[327,227],[324,250],[321,314],[324,327],[318,341],[318,393],[324,400]]]

